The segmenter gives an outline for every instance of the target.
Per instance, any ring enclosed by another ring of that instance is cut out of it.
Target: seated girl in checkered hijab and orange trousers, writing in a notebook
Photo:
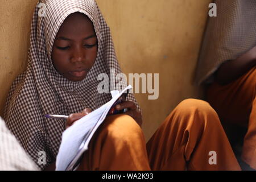
[[[27,71],[14,82],[5,120],[41,169],[53,166],[67,126],[109,101],[97,92],[100,73],[120,73],[112,37],[94,0],[49,0],[32,20]],[[88,109],[85,109],[88,108]],[[107,117],[85,152],[81,170],[239,170],[216,112],[207,102],[185,100],[146,144],[133,94]],[[85,109],[85,110],[84,110]],[[83,111],[82,111],[83,110]],[[82,112],[81,112],[82,111]],[[39,160],[46,152],[46,163]],[[67,151],[68,152],[68,151]]]

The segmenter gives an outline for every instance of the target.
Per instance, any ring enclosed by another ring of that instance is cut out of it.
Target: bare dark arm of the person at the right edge
[[[226,61],[216,72],[218,84],[226,85],[236,80],[256,65],[256,46],[238,57],[236,60]]]

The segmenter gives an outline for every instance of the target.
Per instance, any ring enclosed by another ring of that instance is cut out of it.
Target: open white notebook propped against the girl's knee
[[[71,171],[79,167],[82,154],[88,150],[90,139],[109,114],[118,114],[114,106],[125,101],[131,85],[122,92],[112,91],[112,100],[76,121],[63,132],[56,158],[56,171]]]

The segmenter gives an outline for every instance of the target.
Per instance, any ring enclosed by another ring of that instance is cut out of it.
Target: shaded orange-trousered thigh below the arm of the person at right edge
[[[256,69],[228,85],[213,82],[207,89],[207,101],[227,123],[247,127],[255,99]]]

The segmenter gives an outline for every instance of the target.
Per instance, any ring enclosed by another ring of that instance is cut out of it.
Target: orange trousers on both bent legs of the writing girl
[[[216,111],[205,101],[189,99],[177,105],[147,143],[141,127],[129,115],[106,118],[78,170],[241,168]]]

